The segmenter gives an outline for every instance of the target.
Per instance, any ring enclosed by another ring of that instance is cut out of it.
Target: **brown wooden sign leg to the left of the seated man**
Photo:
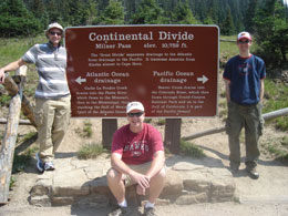
[[[117,119],[102,119],[102,144],[110,150],[113,134],[117,130]]]

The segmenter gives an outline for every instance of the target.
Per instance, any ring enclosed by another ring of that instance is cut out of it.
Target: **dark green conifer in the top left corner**
[[[0,35],[34,35],[41,23],[30,13],[22,0],[2,0],[0,3]]]

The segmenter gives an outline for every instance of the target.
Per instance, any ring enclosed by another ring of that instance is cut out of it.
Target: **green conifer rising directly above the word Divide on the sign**
[[[177,24],[198,23],[192,13],[188,1],[186,1],[185,3],[183,3],[182,1],[178,2],[178,4],[176,6],[176,8],[172,13],[172,23],[177,23]]]

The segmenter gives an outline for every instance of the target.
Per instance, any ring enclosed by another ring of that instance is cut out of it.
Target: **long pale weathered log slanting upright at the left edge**
[[[18,124],[21,112],[22,86],[24,78],[19,84],[19,93],[11,99],[8,122],[0,152],[0,204],[6,204],[9,196],[9,186],[14,156],[14,147],[18,134]]]

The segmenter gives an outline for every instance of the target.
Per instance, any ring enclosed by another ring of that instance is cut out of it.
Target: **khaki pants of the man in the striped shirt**
[[[51,162],[64,140],[71,116],[71,96],[56,100],[35,99],[35,123],[39,155],[43,162]]]

